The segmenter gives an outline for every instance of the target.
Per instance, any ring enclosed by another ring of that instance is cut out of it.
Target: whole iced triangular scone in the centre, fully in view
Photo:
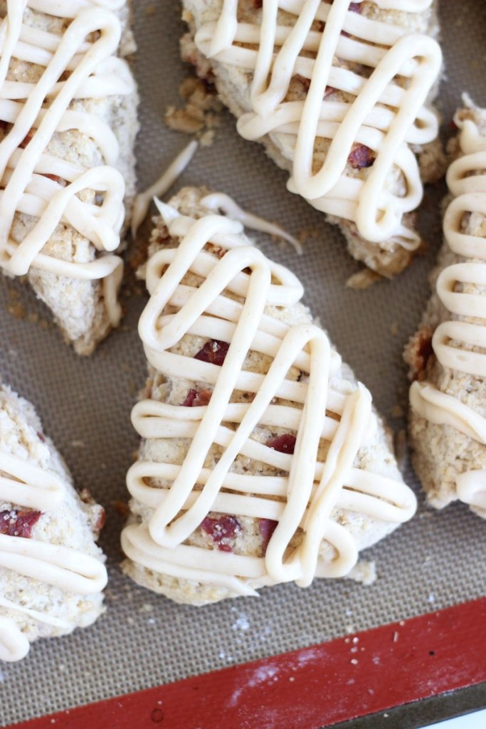
[[[369,391],[235,216],[254,219],[195,189],[160,209],[125,572],[192,604],[348,574],[415,511]]]

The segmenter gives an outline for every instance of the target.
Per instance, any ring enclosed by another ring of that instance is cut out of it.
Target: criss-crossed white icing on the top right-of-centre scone
[[[376,4],[423,12],[431,0]],[[281,11],[294,21],[283,23]],[[315,21],[322,31],[312,29]],[[223,0],[219,20],[205,23],[195,43],[208,58],[253,74],[251,112],[239,118],[238,131],[246,139],[268,134],[280,151],[291,146],[291,192],[318,210],[355,222],[367,241],[418,246],[418,236],[401,220],[423,194],[408,145],[426,144],[438,133],[436,115],[424,106],[442,64],[434,39],[352,12],[349,0],[265,0],[261,25],[238,22],[238,0]],[[361,64],[371,74],[361,76],[342,62]],[[310,83],[306,98],[286,101],[297,74]],[[326,98],[328,87],[352,95],[352,103]],[[329,144],[325,154],[323,143]],[[347,168],[355,144],[375,156],[367,174],[350,174]],[[391,189],[393,165],[403,180],[397,194]]]

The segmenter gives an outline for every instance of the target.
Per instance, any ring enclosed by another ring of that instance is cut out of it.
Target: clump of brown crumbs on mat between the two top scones
[[[214,128],[219,125],[222,103],[212,87],[201,79],[189,77],[179,86],[179,94],[185,104],[179,109],[168,106],[165,124],[169,129],[195,134],[203,147],[213,144]]]

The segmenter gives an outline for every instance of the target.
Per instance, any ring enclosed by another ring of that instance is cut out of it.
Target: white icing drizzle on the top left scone
[[[123,264],[106,252],[119,246],[125,214],[125,181],[112,166],[119,146],[106,122],[73,104],[133,92],[128,66],[115,55],[121,27],[112,11],[122,4],[122,0],[7,0],[7,15],[0,26],[0,119],[12,124],[0,143],[0,267],[14,276],[38,268],[58,276],[101,279],[114,326],[121,315],[117,289]],[[71,23],[62,36],[32,28],[23,23],[27,9]],[[98,37],[88,41],[92,34]],[[7,80],[12,60],[41,66],[39,81]],[[103,163],[85,168],[47,151],[56,133],[69,130],[93,139]],[[22,149],[25,139],[30,141]],[[21,243],[12,238],[18,214],[36,219]],[[82,263],[42,252],[60,223],[87,238],[98,258]]]

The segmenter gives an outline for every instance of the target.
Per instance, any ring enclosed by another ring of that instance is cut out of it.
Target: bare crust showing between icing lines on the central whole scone
[[[176,208],[182,215],[187,215],[192,218],[200,218],[208,214],[208,209],[205,208],[201,200],[207,195],[208,190],[185,188],[181,190],[178,195],[172,198],[170,204],[173,208]],[[248,241],[249,243],[250,241]],[[162,219],[159,217],[155,219],[155,228],[152,233],[152,240],[149,247],[149,257],[157,254],[165,248],[174,248],[179,245],[179,240],[171,238],[168,234],[168,230],[165,227]],[[141,271],[144,275],[144,270]],[[194,284],[189,277],[194,276],[189,273],[183,279],[183,282]],[[189,284],[189,285],[190,285]],[[288,324],[297,324],[302,322],[312,321],[310,312],[300,303],[297,303],[289,308],[281,311],[275,311],[275,308],[268,307],[267,313],[271,316],[278,316],[279,319],[285,321]],[[184,337],[177,343],[177,345],[171,348],[170,351],[176,352],[176,354],[184,356],[195,356],[198,351],[205,345],[208,340],[197,337],[195,335],[184,335]],[[265,373],[268,367],[268,362],[265,361],[266,356],[259,354],[256,351],[250,351],[246,356],[246,362],[244,365],[245,370],[250,370],[256,373]],[[299,378],[299,370],[295,369],[292,374],[292,378]],[[357,382],[350,368],[343,364],[339,372],[332,378],[331,385],[333,389],[336,389],[343,394],[349,394],[356,390]],[[173,376],[168,377],[158,373],[153,367],[149,367],[149,379],[146,383],[146,388],[141,393],[141,399],[149,398],[154,401],[167,402],[171,405],[180,405],[184,402],[188,394],[192,391],[201,391],[204,387],[201,383],[188,380],[187,378],[175,378]],[[235,392],[232,396],[232,402],[245,402],[245,394],[243,392]],[[236,398],[236,399],[233,399]],[[288,430],[277,427],[269,428],[267,426],[257,426],[254,429],[251,437],[261,443],[268,443],[276,437],[288,433]],[[323,439],[321,440],[321,446],[319,450],[319,459],[325,459],[326,450],[329,444]],[[138,451],[138,459],[140,461],[148,462],[164,462],[181,464],[187,454],[189,448],[189,442],[184,438],[150,438],[142,439],[141,446]],[[211,446],[211,450],[208,452],[208,456],[205,459],[205,468],[212,469],[219,460],[221,453],[219,447],[216,445]],[[356,456],[354,467],[369,470],[376,474],[390,477],[394,480],[401,481],[401,475],[396,465],[396,460],[393,456],[393,448],[391,445],[390,432],[385,428],[385,424],[379,416],[377,416],[377,431],[372,439],[366,445],[363,445]],[[272,467],[265,464],[259,464],[258,461],[246,458],[245,456],[238,456],[234,461],[232,472],[248,474],[248,475],[275,475],[277,472]],[[146,506],[133,498],[130,501],[130,509],[132,515],[130,516],[129,525],[148,525],[154,510],[151,507]],[[210,512],[212,518],[217,518],[218,515]],[[389,523],[387,521],[377,521],[376,519],[369,518],[367,515],[353,512],[350,510],[344,510],[335,508],[332,512],[332,520],[337,521],[345,527],[346,531],[352,536],[358,550],[369,547],[379,539],[382,539],[387,534],[391,533],[393,529],[398,526],[396,523]],[[242,555],[251,556],[262,556],[264,554],[264,546],[262,533],[259,530],[259,520],[256,518],[240,517],[238,521],[241,526],[241,533],[235,540],[233,549],[235,553]],[[294,536],[294,545],[298,545],[302,537],[296,533]],[[208,545],[208,541],[203,534],[203,531],[198,528],[184,544],[195,545],[203,548],[211,548]],[[321,543],[319,550],[319,563],[326,564],[332,561],[334,558],[334,547],[329,545],[325,540]],[[156,572],[153,569],[147,569],[146,566],[138,564],[132,559],[126,559],[122,564],[122,569],[125,574],[128,574],[138,584],[143,585],[150,590],[157,593],[162,593],[171,599],[195,604],[203,605],[208,602],[218,601],[225,597],[235,596],[231,590],[224,588],[220,585],[211,585],[205,582],[197,582],[195,580],[181,579],[179,577],[172,577],[168,574],[162,574]],[[249,582],[251,586],[251,580]]]

